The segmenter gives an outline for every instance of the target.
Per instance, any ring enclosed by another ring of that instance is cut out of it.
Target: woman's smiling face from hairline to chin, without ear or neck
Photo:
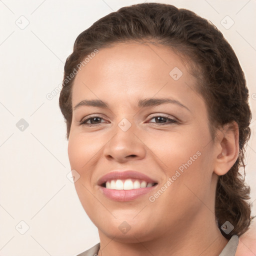
[[[68,156],[100,235],[184,235],[214,214],[216,150],[195,83],[172,50],[141,43],[99,49],[76,74]]]

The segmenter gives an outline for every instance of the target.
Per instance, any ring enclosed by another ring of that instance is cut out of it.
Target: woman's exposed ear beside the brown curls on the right
[[[224,175],[233,166],[239,153],[239,128],[235,121],[217,130],[215,145],[214,172]]]

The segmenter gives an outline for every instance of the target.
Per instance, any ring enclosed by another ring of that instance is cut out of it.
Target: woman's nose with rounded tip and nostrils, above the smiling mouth
[[[145,157],[146,145],[141,141],[139,133],[135,132],[133,125],[126,131],[116,127],[115,134],[104,148],[104,156],[108,160],[125,162]]]

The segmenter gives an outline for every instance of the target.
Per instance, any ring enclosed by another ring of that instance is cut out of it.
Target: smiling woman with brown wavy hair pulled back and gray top
[[[79,255],[238,252],[251,220],[238,172],[251,112],[215,26],[160,3],[102,17],[75,40],[59,105],[75,189],[100,239]]]

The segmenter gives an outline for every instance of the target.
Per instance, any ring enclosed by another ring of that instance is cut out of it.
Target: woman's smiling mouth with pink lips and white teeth
[[[143,173],[126,170],[107,173],[97,184],[109,199],[131,201],[154,189],[158,182]]]

